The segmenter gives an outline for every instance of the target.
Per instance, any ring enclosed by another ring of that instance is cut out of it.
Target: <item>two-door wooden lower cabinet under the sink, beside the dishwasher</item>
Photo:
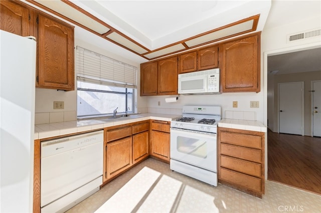
[[[103,184],[149,156],[149,120],[104,129]]]

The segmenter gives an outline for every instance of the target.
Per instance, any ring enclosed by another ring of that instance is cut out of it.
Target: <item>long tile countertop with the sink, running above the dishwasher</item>
[[[181,116],[182,115],[177,114],[142,113],[130,115],[128,117],[119,117],[115,119],[84,119],[67,122],[36,124],[34,139],[42,139],[46,137],[54,137],[64,134],[71,134],[95,129],[98,130],[108,126],[126,124],[148,119],[171,121],[172,119]]]

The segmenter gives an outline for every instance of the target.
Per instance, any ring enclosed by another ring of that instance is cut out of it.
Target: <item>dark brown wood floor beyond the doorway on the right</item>
[[[321,137],[267,133],[269,180],[321,194]]]

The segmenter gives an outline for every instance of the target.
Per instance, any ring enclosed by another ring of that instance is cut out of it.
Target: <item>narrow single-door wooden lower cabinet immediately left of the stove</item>
[[[150,155],[165,162],[170,162],[170,123],[167,121],[151,121]]]

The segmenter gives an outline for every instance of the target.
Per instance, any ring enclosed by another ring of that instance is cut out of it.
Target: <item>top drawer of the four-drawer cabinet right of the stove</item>
[[[261,137],[250,134],[238,134],[222,131],[220,134],[221,142],[234,145],[241,145],[251,148],[261,148]]]

